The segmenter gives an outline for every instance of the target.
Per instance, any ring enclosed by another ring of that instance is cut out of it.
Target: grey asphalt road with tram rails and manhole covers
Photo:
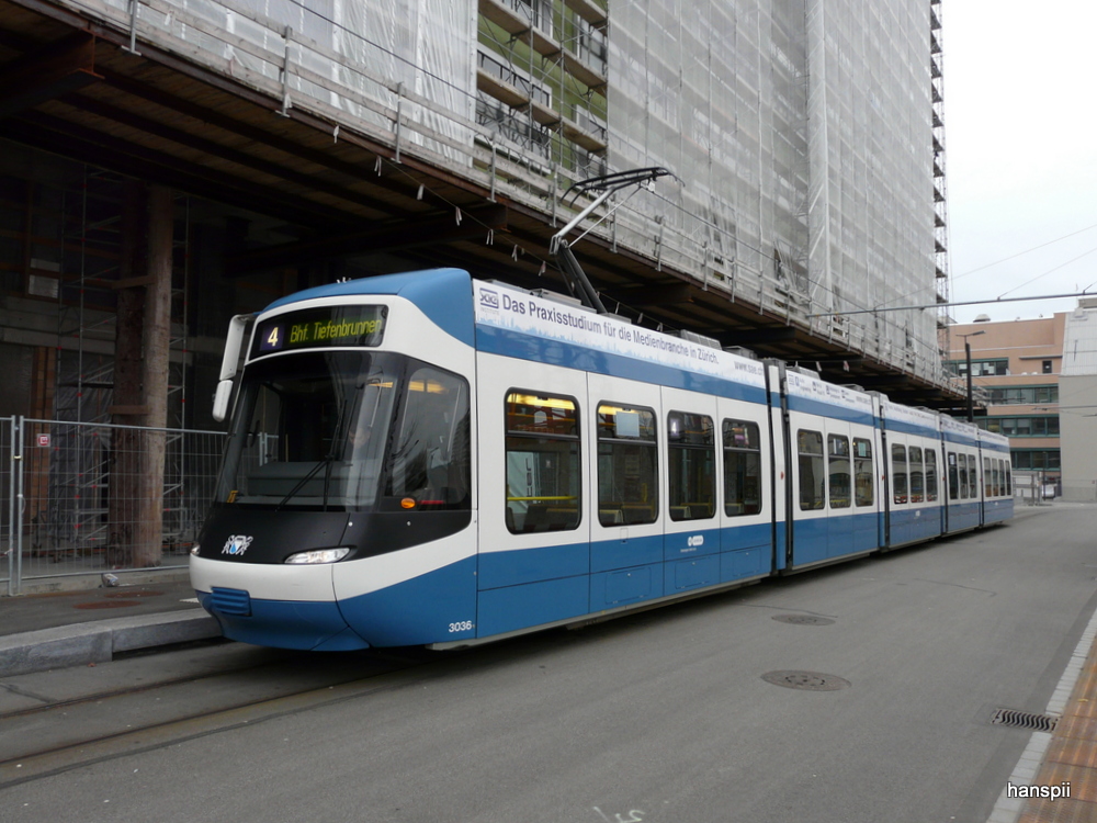
[[[67,765],[10,762],[0,816],[983,823],[1029,739],[991,712],[1044,710],[1097,605],[1097,507],[1019,512],[926,548],[464,653],[225,645],[12,678],[20,707],[177,681],[156,692],[163,728],[140,739],[125,735],[126,712],[156,717],[150,694],[49,714],[50,728],[69,724],[58,740],[118,736]],[[215,686],[184,676],[222,670]],[[844,687],[762,678],[790,670]],[[35,717],[0,721],[0,739],[35,740]]]

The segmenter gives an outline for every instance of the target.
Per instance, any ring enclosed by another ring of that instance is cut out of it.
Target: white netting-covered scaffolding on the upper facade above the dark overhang
[[[58,2],[554,224],[666,167],[592,235],[945,384],[936,312],[842,314],[947,297],[940,0]]]

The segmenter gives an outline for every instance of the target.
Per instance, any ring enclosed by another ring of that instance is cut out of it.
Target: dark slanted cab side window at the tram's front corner
[[[471,508],[468,383],[463,377],[433,367],[409,375],[386,474],[385,495],[399,498],[403,509]]]

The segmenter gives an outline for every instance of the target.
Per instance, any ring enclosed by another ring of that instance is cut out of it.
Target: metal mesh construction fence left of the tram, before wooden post
[[[0,418],[0,595],[18,595],[33,578],[185,566],[224,439],[218,431]],[[154,493],[162,503],[152,508],[138,499],[149,497],[150,459],[162,459],[163,477],[162,498],[158,484]]]

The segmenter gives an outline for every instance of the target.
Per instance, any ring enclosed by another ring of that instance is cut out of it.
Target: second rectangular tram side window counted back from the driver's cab
[[[598,521],[653,523],[659,512],[656,417],[649,408],[598,406]]]

